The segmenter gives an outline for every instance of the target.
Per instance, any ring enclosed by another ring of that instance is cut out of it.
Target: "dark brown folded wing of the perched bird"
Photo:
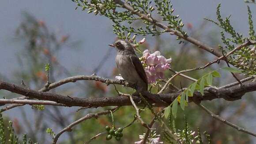
[[[137,73],[139,74],[139,77],[148,85],[147,75],[139,58],[136,55],[130,55],[130,59],[132,61],[132,65],[135,67]]]

